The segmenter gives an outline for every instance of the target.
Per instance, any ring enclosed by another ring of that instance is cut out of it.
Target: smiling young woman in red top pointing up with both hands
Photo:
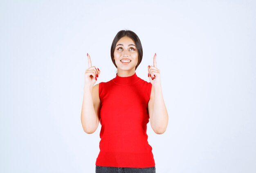
[[[142,60],[138,36],[122,30],[111,46],[111,59],[117,75],[95,85],[101,71],[92,66],[85,70],[81,122],[86,133],[94,133],[99,122],[100,152],[96,173],[155,173],[155,160],[146,134],[147,123],[157,134],[166,131],[168,113],[164,104],[156,54],[148,66],[146,82],[135,70]]]

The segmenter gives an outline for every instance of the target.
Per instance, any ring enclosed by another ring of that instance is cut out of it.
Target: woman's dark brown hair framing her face
[[[120,40],[124,36],[131,38],[135,42],[135,47],[138,51],[138,64],[135,67],[135,70],[136,70],[137,67],[139,66],[139,64],[141,63],[142,56],[143,56],[143,50],[142,50],[141,42],[139,40],[138,35],[136,33],[134,33],[133,31],[121,30],[117,33],[117,35],[115,36],[115,38],[112,42],[112,45],[111,45],[111,50],[110,50],[111,60],[112,60],[113,64],[115,65],[115,67],[117,67],[117,64],[115,63],[115,60],[114,60],[114,51],[115,51],[115,47],[117,45],[118,40]]]

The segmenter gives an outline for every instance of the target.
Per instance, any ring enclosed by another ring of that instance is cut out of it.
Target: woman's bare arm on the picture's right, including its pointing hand
[[[160,70],[157,69],[156,54],[153,58],[153,66],[148,66],[148,77],[152,84],[150,100],[148,102],[150,125],[155,133],[162,134],[167,128],[168,113],[164,104],[160,82]]]

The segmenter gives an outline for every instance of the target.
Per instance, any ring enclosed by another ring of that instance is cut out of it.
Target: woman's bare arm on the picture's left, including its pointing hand
[[[95,85],[99,77],[99,69],[92,67],[90,55],[88,56],[89,68],[85,70],[85,85],[83,90],[83,104],[81,122],[85,133],[93,133],[99,126],[99,111],[101,101],[99,99],[99,84]]]

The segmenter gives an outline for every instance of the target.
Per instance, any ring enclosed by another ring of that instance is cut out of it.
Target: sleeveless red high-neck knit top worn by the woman
[[[146,134],[152,84],[137,77],[119,77],[99,84],[100,152],[97,166],[155,166]]]

